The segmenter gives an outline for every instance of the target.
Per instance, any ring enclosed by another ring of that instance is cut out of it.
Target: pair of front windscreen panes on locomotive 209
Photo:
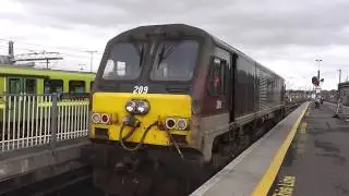
[[[144,66],[152,66],[144,77],[153,81],[192,78],[198,53],[196,40],[163,40],[157,46],[152,45],[154,53],[148,51],[148,42],[117,42],[106,61],[103,78],[136,79]],[[145,58],[152,59],[149,64],[143,63]]]

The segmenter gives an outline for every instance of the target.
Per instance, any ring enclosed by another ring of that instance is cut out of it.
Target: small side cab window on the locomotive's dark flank
[[[209,68],[209,93],[213,96],[225,94],[226,61],[214,58]]]

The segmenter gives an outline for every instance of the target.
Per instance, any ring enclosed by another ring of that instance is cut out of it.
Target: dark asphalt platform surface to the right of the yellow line
[[[349,122],[309,107],[268,195],[349,195]]]

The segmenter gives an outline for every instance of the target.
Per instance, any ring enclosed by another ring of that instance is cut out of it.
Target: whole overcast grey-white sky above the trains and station
[[[14,40],[15,53],[59,51],[53,68],[97,70],[106,42],[128,28],[185,23],[202,27],[287,79],[311,87],[315,59],[337,88],[349,73],[348,0],[1,0],[0,53]],[[33,45],[35,44],[35,45]]]

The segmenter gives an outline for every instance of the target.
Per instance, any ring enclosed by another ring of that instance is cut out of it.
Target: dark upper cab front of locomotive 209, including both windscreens
[[[96,75],[95,90],[133,93],[142,86],[147,94],[191,94],[205,38],[179,29],[133,29],[111,39]]]

